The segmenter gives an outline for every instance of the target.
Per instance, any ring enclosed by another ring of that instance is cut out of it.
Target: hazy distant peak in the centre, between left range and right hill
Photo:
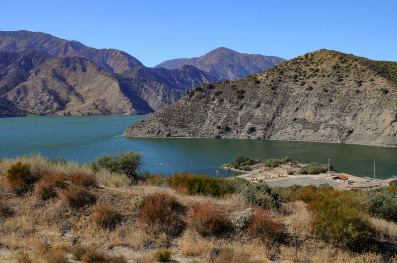
[[[167,60],[156,65],[155,68],[172,69],[186,64],[208,72],[217,80],[236,80],[278,65],[283,61],[285,59],[277,56],[245,54],[227,48],[218,48],[200,57]]]

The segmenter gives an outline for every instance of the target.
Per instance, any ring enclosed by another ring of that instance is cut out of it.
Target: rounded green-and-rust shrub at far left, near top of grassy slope
[[[23,194],[32,189],[33,184],[39,179],[30,171],[30,164],[17,162],[7,170],[7,181],[16,194]]]

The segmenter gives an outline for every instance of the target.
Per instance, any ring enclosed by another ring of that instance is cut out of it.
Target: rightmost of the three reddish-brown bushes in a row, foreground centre
[[[250,216],[247,233],[263,241],[281,241],[284,234],[283,225],[275,220],[269,211],[256,209]]]

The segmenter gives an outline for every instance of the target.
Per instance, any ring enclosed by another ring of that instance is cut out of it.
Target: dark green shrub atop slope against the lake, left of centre
[[[95,160],[95,166],[105,168],[111,172],[127,174],[133,181],[141,179],[139,167],[142,164],[142,156],[139,153],[127,152],[119,155],[104,155]]]

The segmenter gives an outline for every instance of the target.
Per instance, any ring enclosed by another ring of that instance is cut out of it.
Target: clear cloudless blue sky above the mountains
[[[286,59],[332,49],[397,60],[397,0],[2,0],[0,30],[126,51],[146,66],[218,47]]]

